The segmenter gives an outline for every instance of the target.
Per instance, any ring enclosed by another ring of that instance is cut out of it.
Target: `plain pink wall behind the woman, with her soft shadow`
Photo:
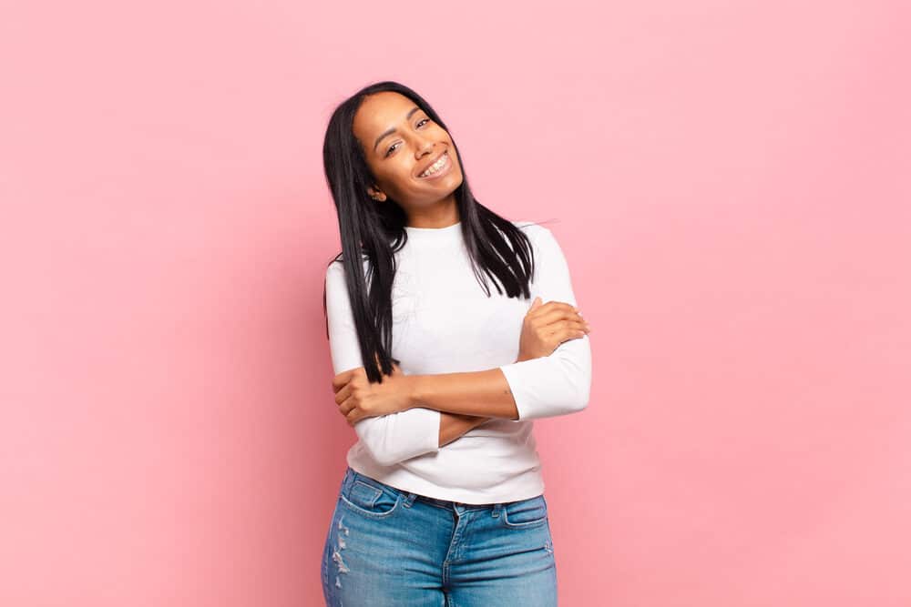
[[[322,604],[322,136],[386,78],[559,220],[561,604],[911,604],[911,10],[557,6],[5,4],[0,604]]]

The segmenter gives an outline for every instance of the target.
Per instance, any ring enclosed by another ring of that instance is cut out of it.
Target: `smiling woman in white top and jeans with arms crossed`
[[[532,420],[584,409],[591,376],[557,240],[477,202],[406,86],[345,100],[323,161],[343,249],[324,293],[333,391],[359,438],[323,550],[327,604],[557,604]]]

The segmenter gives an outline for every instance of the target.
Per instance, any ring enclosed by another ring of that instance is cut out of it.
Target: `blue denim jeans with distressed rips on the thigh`
[[[322,551],[329,607],[552,607],[557,563],[543,495],[464,504],[350,467]]]

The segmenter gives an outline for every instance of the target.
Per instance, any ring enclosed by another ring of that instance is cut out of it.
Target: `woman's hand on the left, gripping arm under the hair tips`
[[[384,375],[382,383],[371,383],[363,367],[343,371],[333,378],[333,391],[339,413],[349,426],[411,407],[408,376],[395,363],[392,375]]]

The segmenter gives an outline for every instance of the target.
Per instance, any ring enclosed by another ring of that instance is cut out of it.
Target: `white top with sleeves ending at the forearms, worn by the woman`
[[[488,420],[440,447],[437,410],[416,407],[365,418],[353,426],[359,440],[346,458],[353,470],[402,491],[469,504],[544,492],[532,420],[588,406],[591,349],[586,335],[565,341],[549,356],[516,362],[523,319],[536,296],[542,303],[577,302],[551,231],[513,224],[535,250],[527,300],[500,295],[493,282],[486,296],[472,271],[461,222],[405,228],[407,243],[395,254],[392,356],[406,375],[501,369],[518,420]],[[363,260],[364,272],[368,263]],[[363,367],[341,262],[326,270],[326,312],[334,373]]]

